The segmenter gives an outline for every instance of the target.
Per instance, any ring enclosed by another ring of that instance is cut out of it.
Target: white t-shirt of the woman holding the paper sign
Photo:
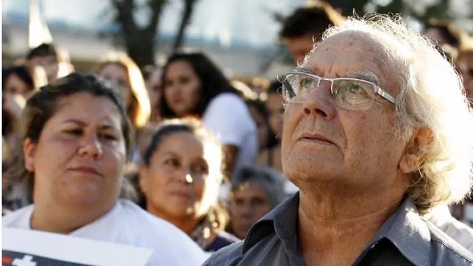
[[[29,205],[3,216],[2,227],[31,230],[33,209]],[[118,200],[102,217],[69,235],[151,248],[154,252],[147,266],[197,266],[209,257],[184,232],[129,200]]]

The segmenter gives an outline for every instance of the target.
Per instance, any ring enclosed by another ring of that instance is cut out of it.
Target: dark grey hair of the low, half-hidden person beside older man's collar
[[[276,207],[286,198],[284,175],[271,167],[262,165],[244,166],[232,176],[232,190],[244,183],[258,184],[271,202],[271,208]]]

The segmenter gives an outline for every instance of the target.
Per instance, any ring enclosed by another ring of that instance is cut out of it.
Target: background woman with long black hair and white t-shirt
[[[225,171],[253,163],[257,156],[256,125],[227,78],[201,53],[178,53],[163,68],[163,118],[194,116],[218,136]]]

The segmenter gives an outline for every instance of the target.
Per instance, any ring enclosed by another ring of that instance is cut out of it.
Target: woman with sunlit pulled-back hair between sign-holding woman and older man
[[[160,124],[139,171],[141,206],[191,236],[205,251],[238,239],[223,229],[228,215],[217,202],[222,150],[195,118]]]

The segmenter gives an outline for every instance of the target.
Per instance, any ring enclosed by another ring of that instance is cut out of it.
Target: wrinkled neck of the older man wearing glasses
[[[300,191],[299,249],[306,262],[352,265],[382,224],[399,206],[404,191],[328,193],[320,187]],[[308,264],[310,265],[310,264]]]

